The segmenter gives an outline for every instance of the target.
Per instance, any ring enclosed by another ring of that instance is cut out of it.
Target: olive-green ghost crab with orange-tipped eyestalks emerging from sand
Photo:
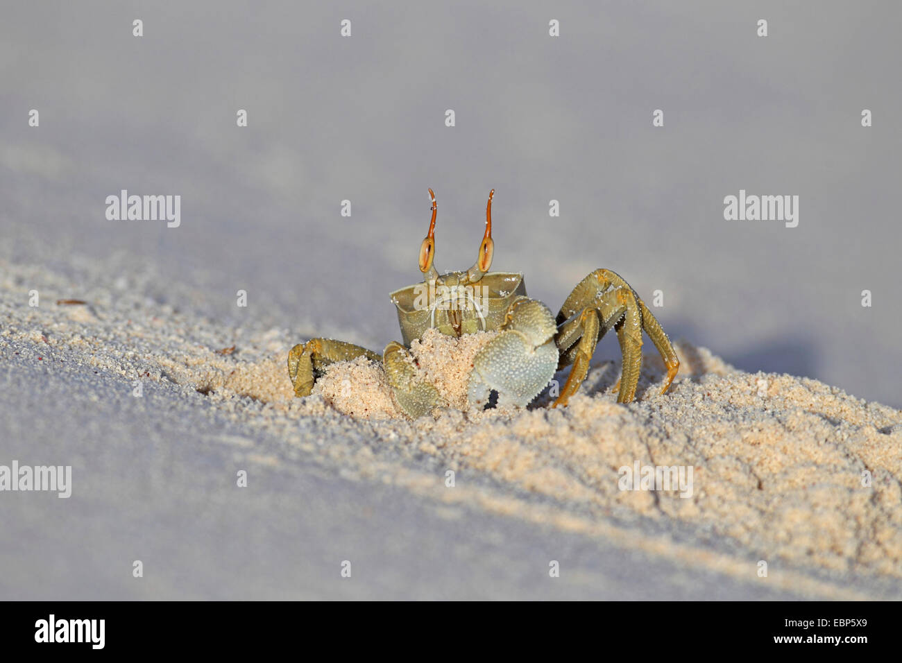
[[[555,318],[538,299],[529,299],[523,275],[489,272],[494,253],[492,197],[485,207],[485,234],[476,262],[465,272],[439,275],[436,252],[437,204],[432,199],[428,235],[419,247],[420,283],[395,290],[403,344],[392,341],[382,356],[359,345],[313,338],[295,345],[288,356],[288,372],[296,396],[307,396],[328,364],[365,356],[382,362],[395,400],[411,419],[446,404],[435,386],[418,378],[410,343],[430,327],[442,334],[462,336],[479,330],[497,331],[474,358],[467,401],[481,405],[491,391],[499,405],[525,407],[551,381],[556,371],[573,364],[552,407],[565,406],[589,370],[598,340],[610,329],[617,333],[623,369],[617,402],[629,403],[636,394],[642,364],[642,331],[658,348],[667,367],[665,393],[679,370],[670,339],[630,285],[611,270],[599,269],[580,281]],[[617,387],[615,386],[615,389]]]

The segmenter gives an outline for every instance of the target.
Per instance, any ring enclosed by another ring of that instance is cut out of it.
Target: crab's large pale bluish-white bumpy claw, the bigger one
[[[467,389],[470,406],[484,405],[490,391],[500,406],[525,407],[557,371],[555,320],[544,304],[526,297],[508,309],[501,334],[475,356]]]

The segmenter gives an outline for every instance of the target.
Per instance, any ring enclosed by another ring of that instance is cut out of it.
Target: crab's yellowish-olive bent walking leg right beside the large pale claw
[[[561,350],[557,369],[560,370],[569,364],[573,364],[573,368],[570,369],[564,388],[551,407],[565,406],[585,380],[595,345],[627,311],[629,300],[627,292],[622,288],[608,290],[600,298],[596,298],[598,300],[596,306],[584,308],[578,317],[570,318],[557,327],[556,342],[558,349]]]

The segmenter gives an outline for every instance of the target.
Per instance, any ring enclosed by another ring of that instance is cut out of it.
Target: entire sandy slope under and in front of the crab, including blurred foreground
[[[899,410],[679,341],[667,395],[647,355],[617,404],[596,359],[566,409],[409,421],[362,360],[293,398],[297,331],[132,261],[2,264],[0,453],[73,468],[69,499],[3,495],[5,598],[902,596]],[[453,391],[454,347],[420,352]],[[636,463],[692,494],[621,490]]]

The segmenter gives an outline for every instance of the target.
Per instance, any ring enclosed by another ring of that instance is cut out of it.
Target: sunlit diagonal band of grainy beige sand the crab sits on
[[[400,418],[377,364],[335,364],[314,395],[296,399],[285,357],[302,339],[287,330],[217,327],[4,267],[5,352],[51,361],[60,372],[104,371],[124,389],[143,380],[202,393],[198,407],[315,454],[345,478],[392,483],[418,499],[615,541],[752,583],[756,562],[765,560],[770,583],[808,595],[856,598],[843,587],[849,578],[890,587],[902,578],[902,412],[836,387],[742,373],[683,342],[667,395],[658,394],[660,360],[646,355],[639,400],[629,406],[612,391],[619,364],[596,361],[566,409],[548,409],[543,395],[527,410],[449,408],[411,422]],[[34,279],[42,281],[39,308],[26,304],[23,283]],[[55,303],[76,295],[87,305]],[[413,348],[422,373],[458,406],[482,340],[430,335]],[[305,437],[305,419],[327,422],[329,437]],[[373,445],[343,441],[349,436]],[[423,472],[424,455],[442,478]],[[692,497],[619,490],[618,469],[637,461],[691,465]],[[436,493],[448,470],[460,487]],[[489,483],[468,484],[474,474]]]

